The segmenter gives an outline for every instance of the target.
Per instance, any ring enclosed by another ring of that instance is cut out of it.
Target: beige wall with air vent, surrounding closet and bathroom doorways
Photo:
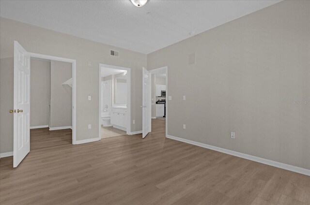
[[[131,131],[142,130],[141,76],[142,67],[146,67],[145,54],[0,18],[0,61],[4,58],[13,58],[14,40],[32,53],[77,60],[77,140],[99,136],[99,63],[132,69],[131,122],[135,119],[136,123],[131,123]],[[119,58],[111,57],[110,49],[119,51]],[[91,66],[88,66],[89,61],[92,62]],[[5,62],[1,62],[2,64]],[[13,66],[3,73],[2,75],[1,68],[0,81],[1,85],[5,85],[3,89],[1,86],[0,96],[1,153],[13,151],[13,115],[2,115],[2,113],[8,113],[13,105]],[[88,101],[89,95],[92,96],[92,101]],[[88,124],[92,124],[92,129],[88,129]]]

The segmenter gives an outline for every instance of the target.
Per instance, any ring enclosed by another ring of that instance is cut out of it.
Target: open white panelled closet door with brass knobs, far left
[[[14,41],[13,167],[30,152],[30,55]]]

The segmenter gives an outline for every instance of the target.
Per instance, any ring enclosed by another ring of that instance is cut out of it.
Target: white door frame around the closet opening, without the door
[[[77,144],[77,60],[66,59],[56,56],[48,56],[37,53],[30,53],[30,58],[57,60],[72,63],[72,144]],[[31,65],[30,65],[31,68]]]

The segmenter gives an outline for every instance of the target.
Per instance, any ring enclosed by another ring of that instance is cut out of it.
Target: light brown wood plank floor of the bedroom
[[[152,131],[71,145],[71,130],[31,131],[18,168],[0,159],[1,205],[310,205],[310,176]]]

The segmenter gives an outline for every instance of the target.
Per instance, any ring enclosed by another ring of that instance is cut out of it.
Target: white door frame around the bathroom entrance
[[[101,67],[124,70],[127,71],[127,128],[126,134],[130,135],[131,133],[131,68],[125,68],[121,66],[108,65],[104,63],[99,63],[99,136],[98,139],[101,140]]]

